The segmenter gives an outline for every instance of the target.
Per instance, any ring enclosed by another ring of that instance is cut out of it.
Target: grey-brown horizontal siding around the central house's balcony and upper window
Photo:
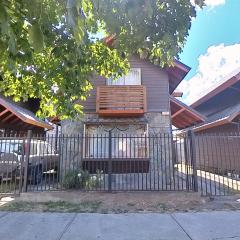
[[[147,112],[169,112],[169,82],[166,71],[161,70],[146,60],[134,56],[130,60],[132,68],[141,68],[142,85],[147,91]],[[83,103],[86,112],[96,112],[96,90],[97,86],[105,86],[106,79],[97,77],[92,80],[94,89]]]

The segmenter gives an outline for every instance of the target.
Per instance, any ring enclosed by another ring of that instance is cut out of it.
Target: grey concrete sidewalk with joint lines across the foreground
[[[240,211],[175,214],[0,212],[2,240],[240,240]]]

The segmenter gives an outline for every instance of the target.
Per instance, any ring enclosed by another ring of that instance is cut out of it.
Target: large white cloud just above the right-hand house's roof
[[[191,104],[204,96],[214,86],[226,81],[226,76],[240,69],[240,44],[211,46],[198,58],[197,73],[183,80],[178,90],[184,93],[183,101]]]

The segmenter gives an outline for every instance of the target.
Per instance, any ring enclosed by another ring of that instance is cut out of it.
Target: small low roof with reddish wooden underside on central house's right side
[[[172,124],[179,129],[188,128],[205,121],[202,114],[173,96],[170,96],[170,105]]]

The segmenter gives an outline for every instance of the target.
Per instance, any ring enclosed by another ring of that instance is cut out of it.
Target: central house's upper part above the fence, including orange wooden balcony
[[[127,125],[128,134],[136,129],[139,134],[171,133],[172,115],[180,128],[203,121],[201,114],[171,96],[189,72],[188,66],[175,61],[173,67],[161,69],[137,56],[130,59],[130,66],[129,74],[118,80],[92,79],[93,90],[83,103],[85,116],[82,121],[63,121],[62,132],[101,134],[99,126],[125,129]]]

